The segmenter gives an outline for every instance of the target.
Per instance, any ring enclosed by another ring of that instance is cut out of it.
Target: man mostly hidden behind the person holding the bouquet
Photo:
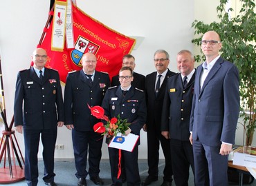
[[[127,54],[122,57],[122,67],[129,67],[133,71],[132,74],[134,77],[134,81],[131,81],[131,85],[133,87],[137,87],[140,90],[145,90],[145,76],[134,72],[135,66],[136,66],[136,64],[135,64],[134,56],[132,56],[131,54]],[[120,85],[118,76],[119,75],[113,76],[112,81],[111,81],[112,86]]]

